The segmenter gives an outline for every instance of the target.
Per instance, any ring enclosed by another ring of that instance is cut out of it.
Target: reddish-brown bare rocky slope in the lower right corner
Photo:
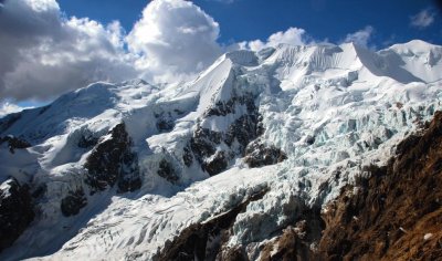
[[[442,257],[442,113],[423,135],[398,145],[386,167],[327,206],[319,243],[326,260],[438,260]],[[425,233],[433,236],[423,240]]]

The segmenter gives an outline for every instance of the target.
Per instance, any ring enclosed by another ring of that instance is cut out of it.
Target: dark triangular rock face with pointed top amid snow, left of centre
[[[118,186],[119,192],[134,191],[141,187],[138,157],[131,152],[131,139],[125,124],[116,125],[110,137],[98,143],[87,157],[86,184],[93,192]]]

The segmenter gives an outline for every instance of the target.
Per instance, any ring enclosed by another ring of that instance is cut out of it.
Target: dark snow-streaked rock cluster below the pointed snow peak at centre
[[[254,103],[254,96],[252,94],[232,95],[231,100],[218,102],[214,107],[204,113],[204,117],[227,116],[235,113],[236,106],[244,105],[246,114],[235,119],[225,133],[198,126],[190,145],[185,148],[183,163],[190,166],[194,156],[202,170],[213,176],[225,170],[229,161],[235,156],[244,156],[249,143],[256,139],[264,130],[260,122],[261,115]],[[263,155],[259,155],[260,153]],[[251,157],[250,161],[253,161],[251,165],[257,167],[284,160],[285,155],[275,147],[262,147],[260,152],[255,152],[254,159]]]

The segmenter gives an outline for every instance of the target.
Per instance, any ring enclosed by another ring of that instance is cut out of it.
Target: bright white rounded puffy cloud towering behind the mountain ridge
[[[222,53],[219,33],[219,24],[190,1],[155,0],[126,40],[140,58],[138,66],[157,81],[167,81],[212,63]]]

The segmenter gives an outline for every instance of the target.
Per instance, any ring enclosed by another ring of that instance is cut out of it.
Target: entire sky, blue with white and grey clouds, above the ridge
[[[0,0],[0,116],[97,81],[188,81],[233,49],[442,44],[436,2]]]

